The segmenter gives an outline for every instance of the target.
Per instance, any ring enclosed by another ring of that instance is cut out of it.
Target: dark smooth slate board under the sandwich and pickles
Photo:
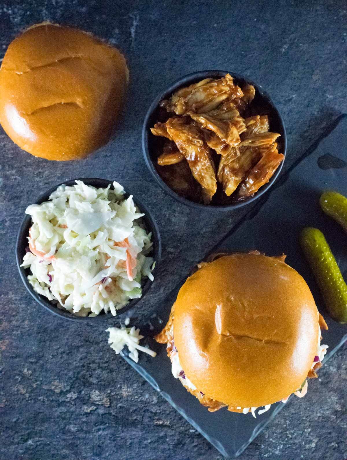
[[[327,189],[347,196],[347,115],[341,116],[330,132],[325,133],[325,137],[317,141],[262,197],[256,208],[210,251],[258,249],[267,255],[287,254],[286,262],[305,278],[319,311],[329,325],[329,331],[323,333],[323,342],[329,345],[324,361],[347,340],[347,324],[336,323],[325,311],[319,290],[298,245],[298,235],[305,226],[322,230],[346,278],[346,233],[319,207],[319,196]],[[251,414],[228,412],[226,408],[210,413],[172,376],[165,346],[158,345],[151,337],[163,327],[176,294],[188,275],[163,300],[157,315],[150,320],[150,328],[147,331],[141,329],[148,337],[150,348],[158,352],[157,357],[153,359],[142,353],[139,362],[135,363],[126,354],[123,356],[221,454],[234,458],[244,451],[285,404],[273,404],[268,412],[256,419]]]

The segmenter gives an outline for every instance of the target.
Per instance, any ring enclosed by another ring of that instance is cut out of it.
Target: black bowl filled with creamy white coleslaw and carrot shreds
[[[117,182],[80,178],[26,209],[16,260],[28,292],[70,320],[105,320],[148,292],[161,258],[148,209]]]

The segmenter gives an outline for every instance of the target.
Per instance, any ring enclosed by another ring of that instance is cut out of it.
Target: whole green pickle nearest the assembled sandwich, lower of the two
[[[319,285],[326,309],[337,322],[347,322],[347,285],[323,233],[307,227],[300,234],[300,244]]]

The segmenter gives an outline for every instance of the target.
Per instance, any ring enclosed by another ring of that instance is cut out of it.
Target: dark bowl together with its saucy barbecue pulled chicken
[[[260,86],[212,70],[183,77],[156,98],[145,119],[142,148],[154,178],[178,201],[231,209],[273,184],[286,135]]]

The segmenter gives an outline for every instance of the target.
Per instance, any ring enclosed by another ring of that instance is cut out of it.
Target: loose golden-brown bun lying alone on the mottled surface
[[[32,155],[83,158],[112,134],[127,81],[116,48],[78,29],[38,24],[6,51],[0,123]]]

